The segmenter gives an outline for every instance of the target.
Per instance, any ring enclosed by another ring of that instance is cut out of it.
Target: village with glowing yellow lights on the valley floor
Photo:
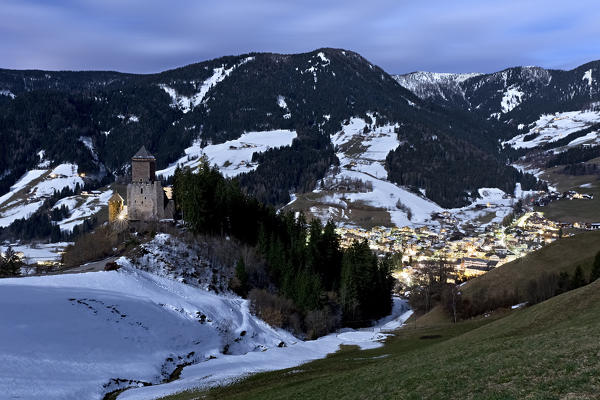
[[[577,223],[557,223],[541,212],[529,210],[507,226],[491,223],[485,228],[459,228],[445,224],[370,230],[341,227],[337,232],[342,246],[350,246],[355,240],[367,240],[371,249],[382,256],[401,255],[394,276],[410,285],[414,273],[421,267],[439,262],[454,271],[451,280],[468,280],[570,235],[563,232],[573,227],[595,229],[595,226]]]

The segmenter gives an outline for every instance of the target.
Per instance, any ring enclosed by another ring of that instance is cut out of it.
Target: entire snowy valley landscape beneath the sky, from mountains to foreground
[[[0,70],[0,389],[587,398],[597,76],[333,48]],[[156,183],[172,213],[133,217]]]

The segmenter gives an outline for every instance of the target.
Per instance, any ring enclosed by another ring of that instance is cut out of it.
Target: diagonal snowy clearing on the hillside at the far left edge
[[[54,169],[28,171],[10,191],[0,197],[0,227],[6,227],[19,218],[35,213],[54,191],[83,186],[83,179],[75,164],[60,164]]]

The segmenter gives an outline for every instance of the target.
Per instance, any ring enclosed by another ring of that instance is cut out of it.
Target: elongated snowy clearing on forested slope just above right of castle
[[[180,167],[195,168],[200,164],[201,157],[206,156],[211,165],[217,165],[224,176],[233,177],[244,172],[250,172],[258,166],[252,163],[252,154],[261,153],[270,148],[290,146],[297,137],[296,131],[278,129],[272,131],[247,132],[235,140],[221,144],[211,144],[200,147],[200,141],[195,141],[185,149],[181,157],[169,167],[156,171],[163,177],[172,176],[175,169]]]

